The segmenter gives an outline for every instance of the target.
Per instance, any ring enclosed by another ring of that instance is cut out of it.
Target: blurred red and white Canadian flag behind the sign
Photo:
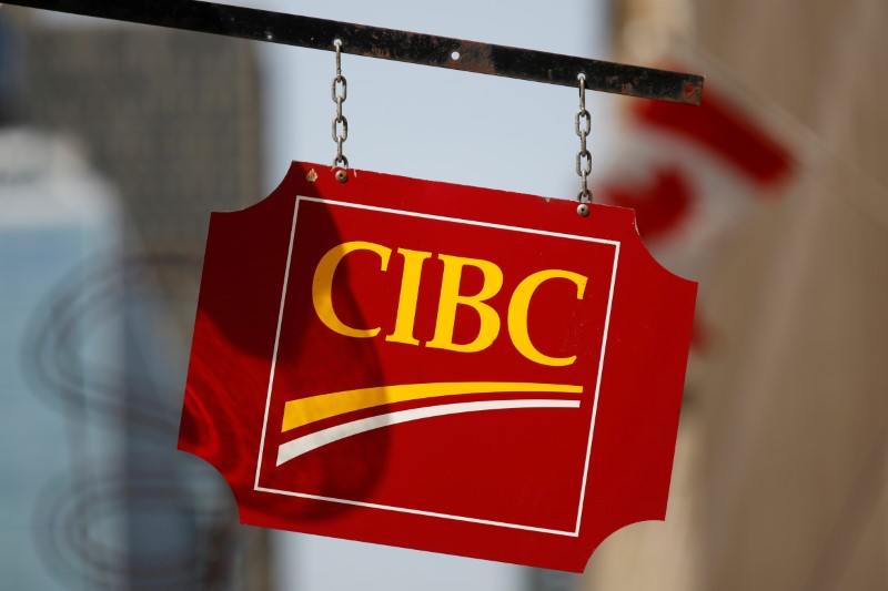
[[[632,207],[657,261],[704,279],[724,238],[758,200],[779,195],[794,157],[767,125],[707,83],[699,108],[636,101],[615,164],[597,183],[602,203]],[[705,349],[708,322],[695,322]]]

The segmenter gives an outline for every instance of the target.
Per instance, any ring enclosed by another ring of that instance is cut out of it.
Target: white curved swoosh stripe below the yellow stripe
[[[303,454],[339,441],[340,439],[372,431],[373,429],[390,427],[400,422],[410,422],[412,420],[427,419],[431,417],[443,417],[445,415],[458,415],[462,412],[505,410],[511,408],[579,408],[579,400],[490,400],[482,403],[435,405],[423,408],[412,408],[410,410],[398,410],[396,412],[386,412],[385,415],[377,415],[375,417],[336,425],[335,427],[322,429],[287,441],[278,448],[278,466],[293,458],[297,458]]]

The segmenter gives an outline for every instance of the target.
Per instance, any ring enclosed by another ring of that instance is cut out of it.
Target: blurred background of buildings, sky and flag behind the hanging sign
[[[707,75],[588,96],[596,201],[700,282],[667,520],[584,575],[238,524],[175,451],[209,214],[332,161],[333,55],[3,6],[0,588],[888,588],[888,3],[229,3]],[[576,92],[343,73],[354,167],[576,195]]]

